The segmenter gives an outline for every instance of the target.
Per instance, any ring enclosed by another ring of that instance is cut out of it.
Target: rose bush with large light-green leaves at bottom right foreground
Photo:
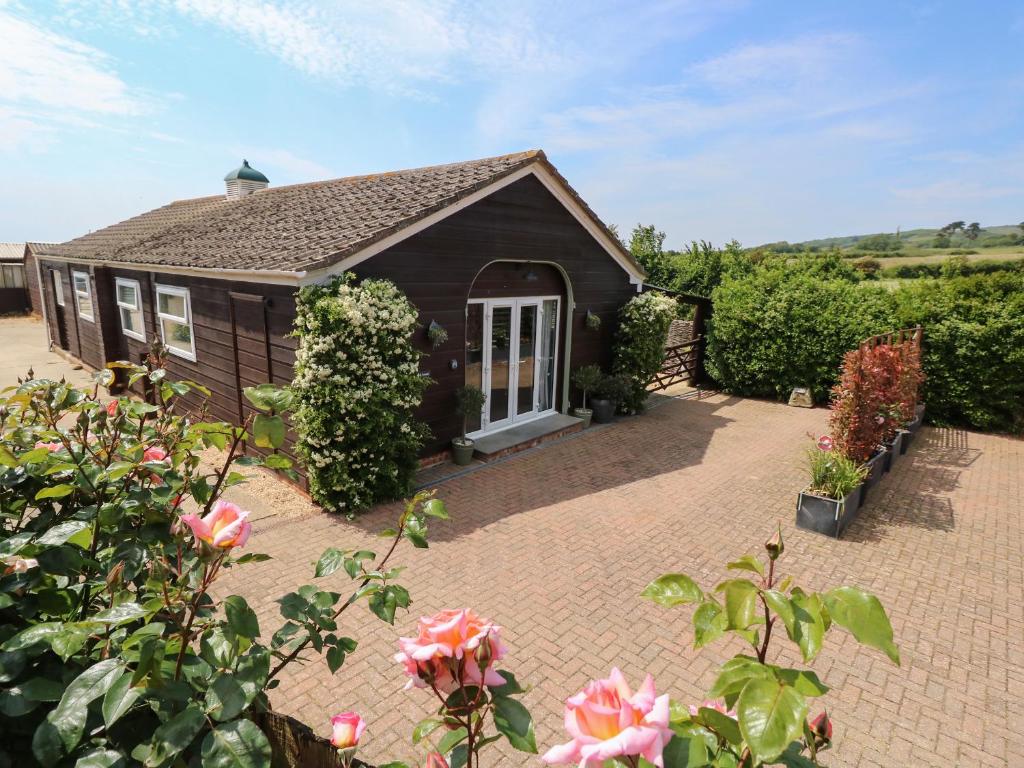
[[[889,616],[878,598],[857,587],[837,587],[822,593],[802,589],[792,577],[780,578],[776,570],[784,551],[779,529],[765,543],[767,564],[754,555],[728,563],[730,570],[750,573],[751,578],[727,579],[714,590],[705,591],[685,573],[667,573],[647,586],[643,597],[660,605],[696,606],[694,647],[733,635],[750,645],[752,652],[737,654],[723,665],[708,692],[708,701],[688,707],[673,702],[669,709],[672,736],[665,741],[651,738],[643,742],[633,734],[629,739],[614,740],[616,729],[626,733],[629,728],[625,726],[637,718],[632,706],[617,719],[611,717],[623,699],[617,685],[616,696],[603,692],[585,695],[585,690],[570,698],[566,702],[566,729],[573,736],[570,743],[579,743],[578,733],[612,739],[605,742],[606,752],[600,753],[594,742],[589,743],[592,752],[584,753],[581,743],[579,755],[584,761],[615,752],[620,760],[633,767],[639,766],[641,759],[665,768],[819,765],[819,754],[830,745],[833,724],[823,712],[808,720],[808,699],[825,694],[828,686],[811,670],[772,664],[768,657],[772,638],[784,631],[805,663],[814,660],[825,635],[837,626],[860,643],[881,650],[896,665],[899,650]],[[652,696],[651,683],[642,701]],[[585,712],[580,718],[580,706],[590,699],[598,717]],[[586,723],[586,728],[581,728],[580,722]],[[575,748],[565,745],[549,751],[546,758],[550,758],[549,762],[568,762],[575,755]]]

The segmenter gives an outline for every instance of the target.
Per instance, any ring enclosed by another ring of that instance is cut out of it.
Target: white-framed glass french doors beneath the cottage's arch
[[[466,383],[485,396],[472,434],[554,413],[559,305],[557,296],[469,302]]]

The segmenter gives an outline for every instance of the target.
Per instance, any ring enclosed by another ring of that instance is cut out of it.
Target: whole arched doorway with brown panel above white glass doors
[[[565,280],[551,264],[496,261],[466,302],[465,383],[485,396],[472,436],[557,412],[564,359]]]

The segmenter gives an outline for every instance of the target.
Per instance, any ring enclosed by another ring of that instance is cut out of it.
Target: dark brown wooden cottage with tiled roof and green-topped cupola
[[[212,414],[238,421],[243,387],[292,379],[299,287],[385,278],[420,311],[435,455],[459,433],[466,383],[488,396],[478,434],[565,413],[570,371],[610,361],[616,311],[643,283],[539,151],[269,188],[244,164],[226,180],[227,195],[38,252],[51,343],[98,369],[162,340],[171,375],[209,387]],[[431,322],[447,332],[436,349]]]

